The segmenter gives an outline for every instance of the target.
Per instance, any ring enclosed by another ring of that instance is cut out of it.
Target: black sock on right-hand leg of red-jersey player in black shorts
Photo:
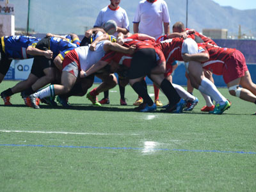
[[[170,81],[164,79],[160,85],[160,88],[163,90],[164,95],[166,95],[171,105],[177,104],[177,102],[179,102],[180,96]]]

